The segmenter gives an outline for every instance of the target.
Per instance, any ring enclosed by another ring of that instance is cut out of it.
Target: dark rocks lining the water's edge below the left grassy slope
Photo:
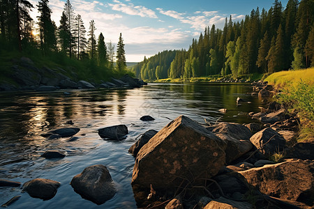
[[[77,80],[75,72],[70,71],[71,77],[65,74],[66,70],[61,68],[50,69],[47,67],[36,68],[33,61],[27,57],[22,57],[15,61],[12,67],[12,74],[9,76],[15,84],[9,82],[0,83],[0,91],[54,91],[57,89],[82,89],[82,88],[139,88],[147,85],[139,79],[134,79],[129,75],[116,79],[111,78],[110,82],[100,81],[87,82]]]

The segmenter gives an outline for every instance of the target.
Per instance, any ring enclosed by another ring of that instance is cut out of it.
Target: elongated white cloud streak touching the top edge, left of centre
[[[140,17],[158,18],[156,13],[144,6],[134,6],[133,3],[121,3],[121,1],[114,0],[114,3],[108,3],[112,10],[126,13],[127,15],[138,15]]]

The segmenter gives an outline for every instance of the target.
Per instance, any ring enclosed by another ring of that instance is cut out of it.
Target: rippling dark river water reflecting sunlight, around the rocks
[[[33,199],[20,188],[0,187],[0,203],[15,195],[22,197],[10,208],[136,208],[130,186],[134,158],[128,148],[135,138],[149,129],[160,130],[170,119],[184,114],[195,121],[250,123],[249,111],[258,111],[260,102],[244,84],[150,84],[129,90],[56,91],[52,93],[0,93],[0,178],[22,183],[48,178],[61,183],[49,201]],[[237,97],[251,103],[237,107]],[[219,109],[226,108],[223,114]],[[151,115],[156,121],[142,122]],[[80,127],[76,141],[49,140],[40,134],[60,127]],[[100,127],[125,124],[128,137],[123,141],[104,141]],[[64,150],[61,160],[40,157],[45,150]],[[69,185],[85,167],[104,164],[118,192],[101,206],[82,199]]]

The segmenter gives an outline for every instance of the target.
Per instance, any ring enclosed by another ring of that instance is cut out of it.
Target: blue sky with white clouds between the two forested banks
[[[285,8],[288,0],[281,3]],[[38,1],[33,3],[31,16],[36,16]],[[59,21],[66,0],[50,0],[52,20]],[[119,34],[124,38],[126,61],[140,62],[170,49],[188,49],[193,38],[198,38],[205,26],[215,24],[223,29],[225,17],[241,22],[257,6],[269,10],[274,0],[70,0],[75,15],[80,14],[85,28],[96,24],[96,39],[103,33],[105,42],[116,45]]]

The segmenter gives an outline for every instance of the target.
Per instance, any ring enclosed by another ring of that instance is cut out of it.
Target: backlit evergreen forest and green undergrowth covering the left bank
[[[37,20],[30,15],[38,10]],[[82,78],[106,79],[126,73],[124,40],[120,33],[117,52],[103,33],[96,38],[96,22],[85,29],[80,14],[75,14],[70,0],[63,6],[60,24],[52,21],[49,0],[33,5],[26,0],[0,0],[0,54],[8,59],[28,56],[43,65],[75,68]],[[116,62],[116,63],[114,63]],[[10,74],[10,65],[1,59],[2,74]],[[7,67],[7,68],[6,68]]]

